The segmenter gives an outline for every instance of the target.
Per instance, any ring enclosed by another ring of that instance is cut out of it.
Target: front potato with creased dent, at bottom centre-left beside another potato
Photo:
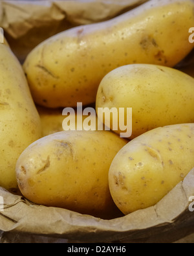
[[[50,134],[23,151],[16,165],[21,193],[36,204],[112,218],[111,161],[126,141],[109,131]]]

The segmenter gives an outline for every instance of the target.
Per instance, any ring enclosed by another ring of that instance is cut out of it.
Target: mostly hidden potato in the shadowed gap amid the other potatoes
[[[41,119],[41,127],[42,127],[42,137],[45,137],[49,134],[54,134],[56,132],[62,132],[63,131],[63,121],[69,117],[69,115],[62,115],[63,109],[62,108],[44,108],[41,106],[37,106],[38,113]],[[81,118],[80,118],[81,117]],[[90,118],[91,117],[91,118]],[[94,115],[83,115],[81,113],[78,113],[75,110],[75,130],[78,130],[78,122],[81,122],[82,124],[82,130],[85,128],[85,122],[87,122],[87,119],[96,119],[96,125],[95,129],[98,130],[98,118],[95,113]],[[80,121],[82,119],[82,121]],[[88,120],[89,121],[89,120]],[[69,124],[70,126],[70,124]],[[104,130],[103,126],[103,130]]]

